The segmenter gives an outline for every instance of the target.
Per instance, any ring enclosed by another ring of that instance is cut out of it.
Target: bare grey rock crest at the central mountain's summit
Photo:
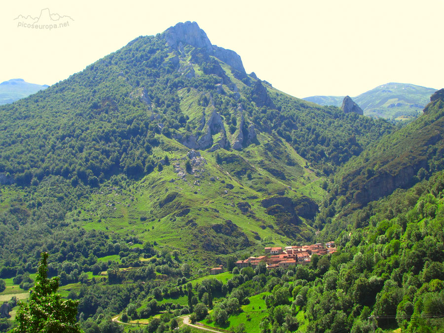
[[[181,51],[181,43],[202,48],[206,51],[207,55],[215,56],[236,71],[246,74],[241,57],[232,50],[212,45],[207,34],[199,28],[196,22],[187,21],[185,23],[178,23],[174,27],[165,30],[163,34],[168,45],[172,48]]]

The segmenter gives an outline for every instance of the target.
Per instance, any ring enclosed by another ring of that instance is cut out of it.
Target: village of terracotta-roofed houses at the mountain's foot
[[[266,247],[264,256],[250,257],[245,260],[237,260],[234,264],[239,269],[244,267],[255,268],[259,262],[264,261],[267,269],[288,268],[296,265],[306,265],[311,261],[312,255],[324,256],[336,252],[334,242],[316,243],[302,246]],[[215,275],[223,272],[223,266],[211,268],[210,274]]]

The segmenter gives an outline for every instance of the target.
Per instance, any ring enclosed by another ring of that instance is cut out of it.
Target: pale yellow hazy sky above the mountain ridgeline
[[[44,8],[53,30],[18,27]],[[0,82],[53,84],[141,35],[196,21],[247,73],[302,98],[355,96],[387,82],[444,87],[444,0],[0,2]]]

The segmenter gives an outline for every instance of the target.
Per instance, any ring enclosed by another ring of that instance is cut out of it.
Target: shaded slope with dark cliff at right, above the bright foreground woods
[[[443,170],[443,91],[431,96],[422,116],[384,136],[336,173],[331,198],[342,201],[341,208],[345,203],[361,207]]]

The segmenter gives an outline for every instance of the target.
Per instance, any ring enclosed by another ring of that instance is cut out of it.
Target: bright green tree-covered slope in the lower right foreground
[[[243,268],[201,323],[244,325],[247,333],[442,332],[443,189],[439,172],[378,202],[368,224],[336,229],[338,252],[312,257],[309,265]],[[331,236],[323,232],[318,240]]]

